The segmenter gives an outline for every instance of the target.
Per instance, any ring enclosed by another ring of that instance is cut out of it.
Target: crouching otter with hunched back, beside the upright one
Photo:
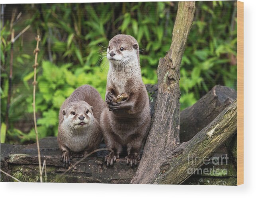
[[[78,87],[64,101],[57,138],[64,166],[70,165],[72,158],[82,158],[98,148],[102,141],[99,122],[103,108],[99,92],[89,85]]]

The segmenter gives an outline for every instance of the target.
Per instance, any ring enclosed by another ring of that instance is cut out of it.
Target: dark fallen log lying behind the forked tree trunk
[[[154,114],[154,105],[158,93],[158,85],[146,85],[150,99],[150,114]],[[221,111],[237,98],[233,88],[215,85],[193,106],[180,112],[180,142],[187,142],[206,127]]]

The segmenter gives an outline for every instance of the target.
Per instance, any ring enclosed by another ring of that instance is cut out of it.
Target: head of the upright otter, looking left
[[[112,65],[139,65],[139,44],[130,35],[116,35],[111,38],[107,47],[107,59]]]

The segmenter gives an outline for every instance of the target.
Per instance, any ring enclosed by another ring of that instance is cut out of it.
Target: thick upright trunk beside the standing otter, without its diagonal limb
[[[152,126],[131,183],[155,183],[160,164],[179,144],[180,64],[192,26],[195,2],[179,2],[170,50],[158,65],[158,96]]]

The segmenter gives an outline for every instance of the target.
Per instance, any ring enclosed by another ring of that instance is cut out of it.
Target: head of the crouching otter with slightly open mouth
[[[94,116],[93,107],[85,101],[70,102],[65,109],[62,110],[63,124],[70,129],[83,129],[92,124]]]

